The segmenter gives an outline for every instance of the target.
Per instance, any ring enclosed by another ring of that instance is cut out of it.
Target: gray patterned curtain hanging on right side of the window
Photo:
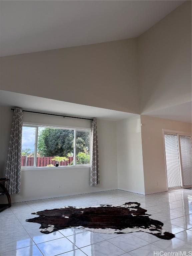
[[[99,184],[99,153],[98,153],[98,138],[97,138],[97,118],[93,118],[91,124],[91,172],[90,185]]]

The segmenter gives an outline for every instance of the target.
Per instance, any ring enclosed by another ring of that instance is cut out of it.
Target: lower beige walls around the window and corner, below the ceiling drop
[[[9,107],[1,107],[1,176],[4,175],[12,114]],[[24,113],[24,121],[90,128],[90,121],[31,113]],[[89,186],[90,168],[61,168],[54,173],[49,169],[22,170],[21,193],[12,196],[12,200],[35,200],[117,188],[141,194],[166,191],[163,129],[191,133],[191,124],[144,115],[141,119],[138,115],[118,122],[98,120],[99,186]],[[58,189],[59,184],[61,189]]]

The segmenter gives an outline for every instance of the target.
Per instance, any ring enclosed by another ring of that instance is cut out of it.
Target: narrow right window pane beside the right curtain
[[[90,163],[90,132],[76,132],[76,164]]]

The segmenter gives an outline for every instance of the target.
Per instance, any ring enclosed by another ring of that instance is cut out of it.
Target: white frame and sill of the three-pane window
[[[34,163],[33,166],[22,166],[22,170],[40,170],[40,169],[62,169],[62,168],[85,168],[90,167],[89,164],[76,164],[76,132],[89,132],[89,149],[91,151],[91,128],[82,128],[82,127],[73,127],[73,126],[61,126],[61,125],[48,125],[48,124],[39,124],[39,123],[29,123],[23,122],[22,127],[32,127],[36,128],[35,130],[35,149],[34,149]],[[45,127],[45,128],[55,128],[55,129],[62,129],[62,130],[74,130],[74,165],[62,165],[62,166],[36,166],[37,162],[37,142],[38,142],[38,128]],[[91,152],[90,152],[91,154]]]

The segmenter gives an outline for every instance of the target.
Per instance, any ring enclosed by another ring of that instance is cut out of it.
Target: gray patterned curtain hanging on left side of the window
[[[23,111],[15,108],[5,168],[5,177],[9,179],[6,187],[10,194],[18,194],[20,192],[22,126]]]

